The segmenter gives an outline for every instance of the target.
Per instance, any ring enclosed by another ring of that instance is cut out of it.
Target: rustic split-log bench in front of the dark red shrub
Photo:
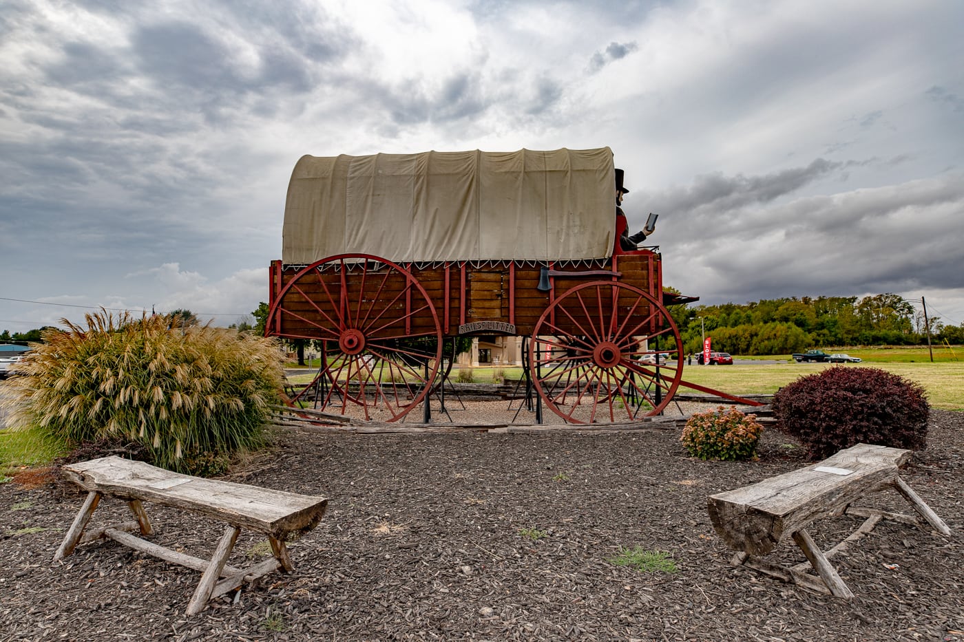
[[[735,566],[746,565],[783,581],[849,600],[853,593],[828,560],[870,533],[882,518],[919,525],[923,519],[939,533],[951,534],[948,525],[900,478],[899,468],[910,456],[910,450],[858,443],[819,464],[710,495],[710,520],[727,545],[738,551],[731,560]],[[887,488],[903,495],[920,517],[852,505]],[[807,532],[807,526],[842,514],[867,519],[843,542],[824,553]],[[790,539],[803,550],[807,562],[787,567],[761,558]],[[807,573],[808,562],[817,576]]]

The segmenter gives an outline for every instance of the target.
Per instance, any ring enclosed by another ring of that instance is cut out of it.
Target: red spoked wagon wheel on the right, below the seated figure
[[[567,291],[539,317],[530,371],[546,405],[566,421],[626,421],[669,404],[683,377],[681,346],[656,298],[626,283],[594,281]]]

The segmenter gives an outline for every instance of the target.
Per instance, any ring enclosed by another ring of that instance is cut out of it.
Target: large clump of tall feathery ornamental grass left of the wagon
[[[71,445],[124,440],[151,462],[213,473],[263,444],[278,403],[281,353],[272,339],[226,328],[172,328],[163,315],[64,319],[8,384],[14,429],[40,428]]]

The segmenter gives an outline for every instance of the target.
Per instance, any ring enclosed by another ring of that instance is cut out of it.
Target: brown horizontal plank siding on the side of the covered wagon
[[[634,285],[652,294],[658,301],[662,283],[659,259],[658,254],[642,251],[610,257],[603,265],[594,261],[585,265],[549,265],[549,268],[573,272],[599,269],[619,272],[621,277],[616,281]],[[447,266],[433,264],[419,267],[406,264],[404,267],[424,288],[436,309],[442,334],[446,335],[459,334],[461,324],[480,321],[512,323],[516,326],[517,335],[530,335],[546,308],[570,288],[590,281],[607,281],[603,276],[554,277],[551,280],[552,289],[546,292],[538,289],[542,266],[532,265],[531,262],[494,262],[478,267],[452,262]],[[434,332],[432,315],[424,310],[417,311],[424,305],[418,288],[397,271],[388,268],[375,272],[369,270],[362,279],[360,271],[348,271],[342,276],[334,269],[323,272],[315,270],[299,278],[281,297],[281,289],[299,273],[298,269],[281,266],[277,262],[272,266],[270,300],[279,303],[279,311],[271,324],[273,334],[335,338],[338,319],[348,312],[351,312],[356,323],[360,318],[369,321],[379,319],[380,322],[372,326],[378,327],[374,334],[380,336]],[[385,278],[386,274],[389,274],[388,279]],[[342,283],[350,292],[345,301],[337,294]],[[616,306],[626,313],[636,299],[634,296],[621,296]],[[611,308],[611,302],[606,304]],[[588,323],[585,313],[577,303],[575,307],[567,306],[566,310],[573,318],[562,314],[562,318],[556,318],[555,323],[567,332],[582,334],[578,326]],[[589,311],[592,314],[599,310]],[[648,310],[637,308],[636,311],[645,314]],[[643,330],[654,332],[656,326]],[[477,334],[495,333],[483,331]]]

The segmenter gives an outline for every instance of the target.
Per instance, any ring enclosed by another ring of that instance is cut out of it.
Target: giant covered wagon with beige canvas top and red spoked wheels
[[[614,198],[608,147],[304,156],[266,332],[323,344],[306,389],[328,413],[401,419],[455,337],[485,333],[522,336],[525,377],[568,422],[658,414],[682,343],[661,256],[619,248]]]

